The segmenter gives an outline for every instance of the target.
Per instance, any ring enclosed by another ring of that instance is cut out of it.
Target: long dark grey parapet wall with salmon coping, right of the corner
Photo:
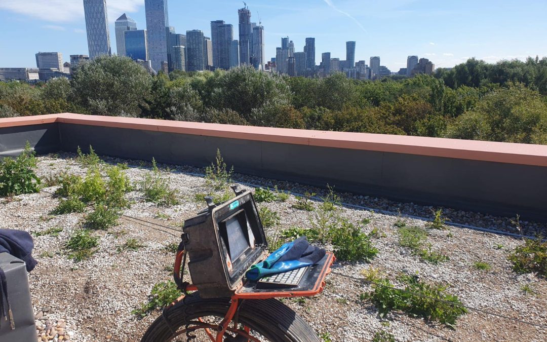
[[[219,148],[247,175],[547,222],[547,146],[78,114],[60,114],[56,123],[67,152],[91,145],[102,155],[202,167]],[[37,135],[34,126],[26,127]],[[43,150],[55,146],[49,130],[38,140]],[[24,146],[25,134],[15,136]]]

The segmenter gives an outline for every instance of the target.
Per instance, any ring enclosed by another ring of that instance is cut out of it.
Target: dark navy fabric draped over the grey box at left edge
[[[9,253],[23,260],[27,266],[27,272],[34,269],[38,263],[32,257],[34,242],[32,236],[26,231],[17,229],[0,229],[0,253]]]

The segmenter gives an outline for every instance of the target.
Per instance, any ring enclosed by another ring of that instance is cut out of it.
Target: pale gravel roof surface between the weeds
[[[60,154],[38,157],[38,175],[46,177],[63,171],[85,175],[85,167],[76,163],[73,156]],[[121,161],[105,159],[114,164]],[[139,165],[139,161],[128,162],[130,165]],[[137,189],[127,194],[127,198],[134,202],[124,214],[174,230],[122,218],[118,227],[93,232],[100,236],[98,251],[90,259],[78,263],[67,258],[63,244],[75,230],[82,227],[85,213],[50,215],[49,212],[58,203],[58,199],[50,194],[56,187],[13,199],[0,199],[0,228],[21,229],[31,233],[52,227],[62,228],[58,236],[34,237],[33,254],[38,265],[30,273],[29,281],[37,326],[41,328],[38,336],[45,335],[47,340],[47,332],[53,329],[57,332],[56,341],[137,341],[141,338],[160,311],[156,310],[139,319],[131,314],[131,310],[146,302],[155,283],[172,279],[170,269],[174,254],[165,247],[179,242],[183,220],[193,217],[203,208],[204,203],[196,202],[194,194],[207,192],[202,177],[182,173],[203,173],[202,169],[175,166],[173,171],[165,173],[165,177],[170,177],[171,187],[179,190],[181,204],[157,206],[144,201],[143,194]],[[124,172],[136,183],[144,173],[150,171],[131,167]],[[244,175],[234,175],[234,179],[270,187],[277,185],[293,193],[304,193],[307,190],[324,193],[321,189],[271,179]],[[352,204],[408,215],[432,216],[431,207],[427,206],[400,204],[368,196],[340,195],[344,202]],[[290,196],[286,202],[261,203],[259,206],[267,206],[280,214],[281,224],[277,229],[293,226],[310,228],[313,212],[293,208],[295,202],[294,196]],[[317,203],[314,204],[317,206]],[[452,222],[515,231],[511,228],[514,224],[510,218],[450,209],[445,209],[444,213]],[[371,265],[380,268],[395,284],[395,276],[401,272],[417,272],[422,280],[450,284],[448,291],[457,294],[464,305],[547,325],[547,281],[533,274],[514,273],[507,260],[507,253],[522,244],[522,240],[467,228],[428,229],[427,239],[434,250],[443,251],[450,257],[445,263],[433,265],[421,261],[407,248],[398,245],[397,228],[394,227],[394,223],[400,219],[397,215],[344,207],[342,216],[352,222],[369,218],[370,223],[365,226],[365,231],[378,228],[383,233],[382,237],[373,240],[379,253]],[[403,219],[408,225],[426,227],[427,222],[422,219]],[[546,231],[541,224],[522,222],[522,225],[527,232]],[[118,253],[117,246],[130,238],[137,239],[144,247],[138,251]],[[498,245],[503,247],[498,249]],[[487,262],[491,269],[475,269],[473,264],[477,261]],[[380,318],[373,304],[359,300],[359,294],[371,289],[362,281],[363,276],[360,274],[368,267],[366,263],[336,262],[321,294],[306,300],[286,299],[283,302],[304,317],[316,332],[328,333],[333,341],[367,341],[381,329],[392,333],[398,341],[544,341],[547,336],[544,328],[474,310],[458,318],[455,330],[443,324],[409,317],[402,312]],[[521,287],[524,285],[530,286],[535,294],[523,292]]]

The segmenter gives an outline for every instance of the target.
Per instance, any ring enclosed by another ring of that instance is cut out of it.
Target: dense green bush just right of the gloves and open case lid
[[[378,253],[370,237],[347,219],[340,220],[340,228],[334,231],[332,243],[334,255],[339,260],[369,262]]]

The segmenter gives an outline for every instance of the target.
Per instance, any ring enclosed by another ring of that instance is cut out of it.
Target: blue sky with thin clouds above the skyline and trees
[[[114,20],[127,13],[146,28],[144,0],[107,0],[110,40]],[[169,1],[170,25],[178,33],[199,29],[210,34],[211,20],[234,25],[241,1]],[[487,62],[547,56],[547,1],[429,0],[248,0],[266,32],[266,60],[275,56],[281,37],[302,51],[316,38],[316,60],[329,51],[344,60],[345,42],[356,40],[356,61],[380,56],[392,71],[406,56],[426,57],[437,67],[452,67],[476,57]],[[0,0],[0,67],[36,67],[38,51],[88,54],[82,0]],[[235,38],[237,39],[237,38]]]

